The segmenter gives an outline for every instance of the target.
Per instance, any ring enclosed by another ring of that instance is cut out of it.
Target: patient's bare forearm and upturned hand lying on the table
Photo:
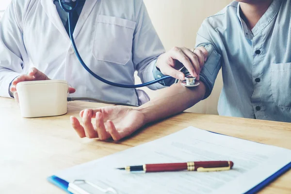
[[[118,141],[137,129],[156,120],[180,113],[199,102],[206,93],[203,82],[194,88],[180,83],[163,88],[161,95],[138,108],[127,106],[108,106],[99,109],[86,109],[80,116],[83,125],[74,116],[71,117],[73,128],[78,135],[88,138]],[[95,118],[92,124],[92,118]]]

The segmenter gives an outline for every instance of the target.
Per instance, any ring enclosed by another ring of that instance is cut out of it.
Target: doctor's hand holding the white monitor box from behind
[[[16,100],[17,104],[19,103],[18,94],[16,91],[16,84],[22,81],[41,81],[41,80],[50,80],[46,74],[39,71],[37,68],[32,67],[29,70],[28,75],[20,75],[16,77],[10,86],[10,92],[13,93],[14,99]],[[69,87],[69,93],[74,93],[76,90],[72,87]]]

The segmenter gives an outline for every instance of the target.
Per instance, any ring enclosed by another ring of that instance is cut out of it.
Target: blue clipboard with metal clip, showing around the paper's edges
[[[205,131],[208,131],[208,130],[205,130]],[[216,133],[216,132],[212,132],[212,131],[208,131],[208,132],[215,133],[218,135],[224,135],[224,134],[220,134],[220,133]],[[228,136],[228,135],[224,135],[224,136]],[[233,138],[236,138],[236,137],[233,137]],[[241,138],[236,138],[236,139],[241,139]],[[242,139],[242,140],[244,140],[244,139]],[[249,140],[247,140],[247,141],[249,141]],[[252,142],[252,141],[250,141],[250,142]],[[259,184],[257,184],[253,188],[249,189],[244,194],[258,193],[261,189],[263,189],[264,187],[269,185],[276,178],[280,177],[281,175],[283,175],[285,172],[287,172],[290,169],[291,169],[291,162],[289,162],[288,164],[286,164],[285,166],[283,166],[282,168],[277,170],[273,175],[267,177],[266,179],[261,181]],[[110,186],[109,187],[100,187],[100,186],[98,186],[94,183],[88,182],[86,180],[74,180],[73,182],[67,182],[66,180],[59,178],[55,175],[47,178],[47,180],[50,183],[58,186],[59,188],[61,188],[62,190],[64,190],[68,194],[92,194],[89,191],[87,191],[86,189],[82,188],[82,185],[87,185],[87,186],[92,187],[94,189],[94,194],[95,194],[95,192],[97,192],[98,194],[99,193],[100,194],[118,194],[118,191]]]

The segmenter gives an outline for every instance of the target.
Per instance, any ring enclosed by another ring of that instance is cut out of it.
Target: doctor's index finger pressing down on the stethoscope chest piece
[[[178,47],[174,47],[171,51],[171,57],[173,59],[178,60],[180,63],[182,63],[189,71],[189,73],[193,76],[193,77],[197,77],[196,73],[195,73],[195,69],[194,69],[194,65],[192,65],[189,57],[184,53],[185,49],[181,49]],[[190,51],[191,52],[191,51]],[[188,53],[189,54],[189,53]],[[194,53],[193,53],[194,54]]]

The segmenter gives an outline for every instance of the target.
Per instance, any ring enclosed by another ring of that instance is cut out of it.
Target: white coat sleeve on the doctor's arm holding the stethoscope
[[[133,35],[132,60],[138,76],[143,83],[156,80],[157,58],[165,52],[162,42],[155,31],[148,16],[146,6],[142,0],[134,0],[136,13],[136,28]],[[165,87],[160,83],[147,86],[152,90]]]

